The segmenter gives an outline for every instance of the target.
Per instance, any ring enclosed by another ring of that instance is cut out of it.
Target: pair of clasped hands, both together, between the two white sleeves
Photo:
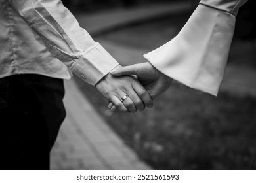
[[[96,84],[96,89],[108,99],[111,110],[134,113],[153,107],[153,99],[165,92],[171,82],[171,78],[146,62],[118,65]]]

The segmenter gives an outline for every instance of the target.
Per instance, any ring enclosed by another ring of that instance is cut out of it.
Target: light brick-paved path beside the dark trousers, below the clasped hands
[[[51,169],[151,169],[106,125],[73,80],[65,88],[67,117],[51,152]]]

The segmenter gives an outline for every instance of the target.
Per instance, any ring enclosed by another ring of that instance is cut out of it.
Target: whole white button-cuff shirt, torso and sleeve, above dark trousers
[[[95,85],[119,64],[60,0],[0,0],[0,22],[0,78],[74,73]]]

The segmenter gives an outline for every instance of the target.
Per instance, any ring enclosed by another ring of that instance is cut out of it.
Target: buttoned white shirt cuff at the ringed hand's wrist
[[[119,63],[100,44],[79,56],[70,68],[72,73],[85,82],[96,85]]]

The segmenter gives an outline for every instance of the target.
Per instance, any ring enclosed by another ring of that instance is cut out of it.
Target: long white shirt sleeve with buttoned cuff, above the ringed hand
[[[119,63],[79,26],[60,0],[8,0],[41,36],[54,57],[95,85]]]

